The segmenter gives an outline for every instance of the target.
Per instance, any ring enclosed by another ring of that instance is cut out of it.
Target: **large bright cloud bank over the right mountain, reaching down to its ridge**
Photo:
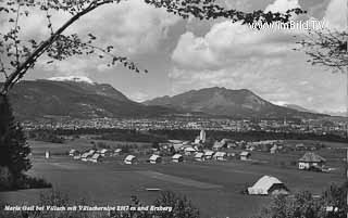
[[[284,12],[299,7],[297,0],[276,0],[265,9]],[[302,18],[315,20],[310,15]],[[251,89],[272,102],[316,110],[344,108],[341,75],[315,68],[306,63],[308,56],[291,50],[296,48],[294,36],[304,33],[304,29],[254,30],[228,21],[215,23],[203,36],[187,31],[172,54],[174,67],[169,75],[172,92],[224,86]]]

